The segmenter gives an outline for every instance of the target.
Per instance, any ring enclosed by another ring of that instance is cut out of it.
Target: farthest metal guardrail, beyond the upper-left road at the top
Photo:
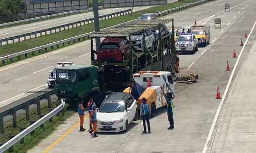
[[[98,8],[102,9],[103,7],[99,6]],[[93,8],[89,8],[89,11],[92,11],[92,10],[93,10]],[[39,16],[39,17],[34,17],[34,18],[29,18],[29,19],[14,21],[14,22],[8,22],[8,23],[0,24],[0,27],[4,27],[6,25],[12,25],[12,24],[18,24],[18,23],[33,21],[33,20],[38,20],[38,19],[43,19],[43,18],[48,18],[48,17],[53,17],[53,16],[66,15],[66,14],[76,13],[76,12],[80,12],[80,11],[87,11],[87,10],[76,10],[76,11],[63,12],[63,13],[58,13],[58,14],[53,14],[53,15]]]

